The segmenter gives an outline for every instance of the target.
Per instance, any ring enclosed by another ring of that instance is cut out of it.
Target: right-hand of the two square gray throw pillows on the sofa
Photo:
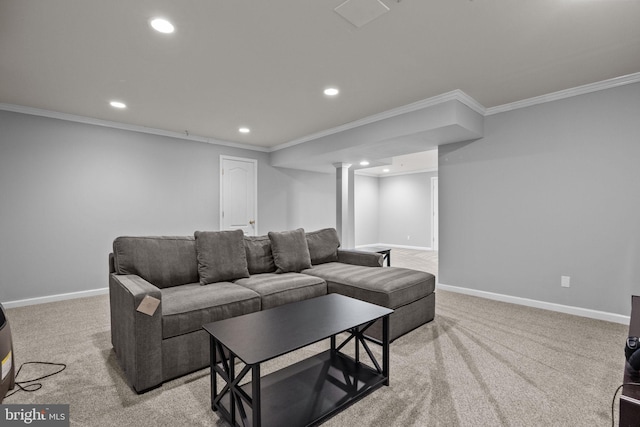
[[[293,231],[269,232],[273,261],[276,273],[299,273],[305,268],[311,268],[311,257],[304,230],[298,228]]]

